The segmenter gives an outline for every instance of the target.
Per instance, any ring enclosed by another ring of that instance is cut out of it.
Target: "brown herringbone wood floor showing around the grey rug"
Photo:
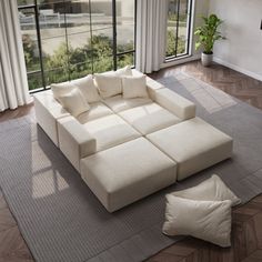
[[[214,64],[203,68],[190,62],[150,74],[154,79],[185,72],[224,92],[262,109],[262,82]],[[0,121],[33,113],[33,105],[0,113]],[[18,225],[0,192],[0,262],[33,261]],[[232,248],[221,249],[193,238],[171,245],[149,262],[261,262],[262,261],[262,195],[233,210]],[[124,261],[123,261],[124,262]]]

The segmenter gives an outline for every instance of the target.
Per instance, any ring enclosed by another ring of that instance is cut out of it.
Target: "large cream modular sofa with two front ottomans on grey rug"
[[[115,72],[125,74],[142,75],[129,68]],[[88,81],[90,77],[59,89],[67,93],[73,85],[85,92]],[[34,94],[38,123],[109,212],[232,154],[232,139],[196,118],[191,101],[149,77],[145,81],[147,95],[138,98],[124,98],[124,87],[109,97],[102,88],[92,90],[83,95],[89,110],[77,117],[54,99],[56,85],[53,92]]]

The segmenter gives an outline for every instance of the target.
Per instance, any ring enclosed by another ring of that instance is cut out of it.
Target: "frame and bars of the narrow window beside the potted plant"
[[[181,59],[183,57],[188,57],[190,56],[190,46],[191,46],[191,33],[192,33],[192,13],[193,13],[193,0],[188,0],[188,17],[189,17],[189,20],[188,20],[188,39],[187,39],[187,44],[185,44],[185,52],[184,53],[178,53],[178,39],[179,39],[179,19],[180,19],[180,1],[181,0],[178,0],[178,6],[177,6],[177,12],[178,12],[178,17],[177,17],[177,27],[175,27],[175,39],[177,39],[177,42],[175,42],[175,50],[174,50],[174,54],[173,56],[169,56],[169,57],[165,57],[164,58],[164,62],[171,62],[171,61],[174,61],[177,59]],[[168,28],[168,24],[167,24],[167,28]],[[167,39],[168,41],[168,39]]]

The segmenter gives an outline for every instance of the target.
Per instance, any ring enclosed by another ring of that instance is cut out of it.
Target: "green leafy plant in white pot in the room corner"
[[[201,27],[198,27],[194,31],[194,34],[199,36],[199,39],[195,42],[195,49],[198,50],[200,47],[203,48],[201,61],[204,67],[209,67],[213,60],[214,42],[219,39],[224,39],[218,31],[219,26],[223,21],[213,13],[209,17],[201,18],[203,19],[204,23]]]

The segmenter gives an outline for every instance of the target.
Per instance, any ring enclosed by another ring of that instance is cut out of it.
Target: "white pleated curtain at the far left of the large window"
[[[29,102],[17,0],[0,0],[0,112]]]

